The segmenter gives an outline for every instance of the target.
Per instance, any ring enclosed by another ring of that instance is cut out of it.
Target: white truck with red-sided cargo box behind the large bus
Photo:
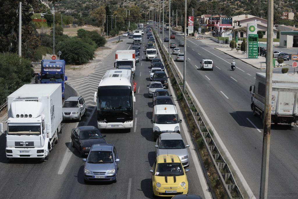
[[[117,50],[115,53],[115,68],[121,67],[131,67],[133,76],[135,76],[136,71],[136,51],[135,50]]]

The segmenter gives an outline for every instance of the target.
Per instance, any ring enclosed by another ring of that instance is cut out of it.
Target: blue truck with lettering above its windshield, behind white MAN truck
[[[41,74],[38,75],[41,84],[60,83],[62,87],[62,99],[64,99],[65,81],[65,61],[63,59],[43,59],[41,60]]]

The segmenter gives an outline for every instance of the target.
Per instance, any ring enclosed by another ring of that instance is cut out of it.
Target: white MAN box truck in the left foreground
[[[48,159],[61,131],[61,96],[61,84],[25,84],[7,97],[7,159]]]

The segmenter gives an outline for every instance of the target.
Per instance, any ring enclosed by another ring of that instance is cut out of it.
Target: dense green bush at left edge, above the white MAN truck
[[[0,53],[0,105],[5,103],[6,97],[31,81],[33,70],[30,60],[15,53]]]

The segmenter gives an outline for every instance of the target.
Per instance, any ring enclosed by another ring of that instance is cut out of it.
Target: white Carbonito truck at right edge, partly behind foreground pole
[[[264,122],[266,73],[256,73],[256,81],[251,85],[251,109]],[[271,124],[297,125],[298,75],[272,74]]]

